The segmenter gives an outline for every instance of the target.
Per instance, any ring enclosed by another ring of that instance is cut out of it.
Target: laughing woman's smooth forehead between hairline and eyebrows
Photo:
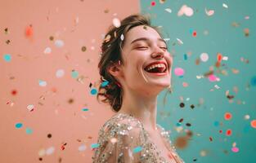
[[[161,38],[159,33],[156,32],[155,29],[140,25],[137,27],[133,27],[126,33],[125,39],[128,44],[130,44],[133,40],[140,38],[140,37],[147,37],[150,40],[157,40],[158,38]]]

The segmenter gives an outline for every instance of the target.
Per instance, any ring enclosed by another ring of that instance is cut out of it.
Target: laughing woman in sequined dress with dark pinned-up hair
[[[170,86],[172,64],[166,42],[145,15],[110,27],[101,46],[97,99],[105,97],[117,113],[99,131],[94,163],[184,162],[156,124],[157,96]]]

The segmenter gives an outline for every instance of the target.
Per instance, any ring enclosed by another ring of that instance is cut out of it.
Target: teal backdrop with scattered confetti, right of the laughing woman
[[[256,162],[256,1],[140,5],[173,55],[172,88],[158,97],[157,122],[179,155],[185,162]]]

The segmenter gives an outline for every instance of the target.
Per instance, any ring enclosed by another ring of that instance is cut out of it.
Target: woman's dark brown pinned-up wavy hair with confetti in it
[[[122,86],[119,85],[119,81],[108,72],[108,68],[118,62],[119,64],[124,63],[121,48],[124,46],[125,34],[133,27],[139,25],[145,25],[145,28],[148,26],[155,29],[161,36],[159,29],[150,24],[149,15],[134,14],[122,20],[119,27],[111,25],[101,45],[101,59],[98,64],[101,85],[97,93],[97,100],[99,101],[99,96],[104,97],[105,99],[101,99],[101,101],[110,104],[115,112],[119,112],[122,106],[123,91]]]

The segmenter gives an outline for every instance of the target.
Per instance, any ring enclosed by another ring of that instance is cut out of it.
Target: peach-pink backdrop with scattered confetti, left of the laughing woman
[[[91,92],[101,40],[114,18],[139,5],[0,2],[0,162],[92,162],[91,144],[114,114]]]

